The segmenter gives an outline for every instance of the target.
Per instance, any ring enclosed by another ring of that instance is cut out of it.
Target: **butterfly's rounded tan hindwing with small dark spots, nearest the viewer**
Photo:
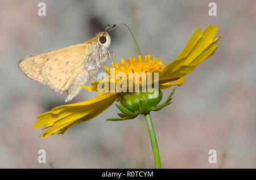
[[[89,57],[86,46],[72,48],[51,57],[44,65],[42,75],[54,91],[63,93],[84,68]]]

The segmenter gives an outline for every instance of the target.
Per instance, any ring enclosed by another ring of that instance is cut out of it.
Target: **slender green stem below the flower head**
[[[158,150],[158,142],[156,141],[155,130],[154,130],[154,126],[152,123],[150,113],[144,114],[144,117],[146,119],[147,129],[148,129],[148,132],[150,135],[150,141],[151,141],[154,160],[155,160],[155,168],[161,169],[161,161],[160,161],[160,154],[159,154],[159,150]]]

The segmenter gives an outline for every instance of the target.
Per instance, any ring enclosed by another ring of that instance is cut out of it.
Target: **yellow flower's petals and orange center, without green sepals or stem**
[[[117,64],[112,63],[112,67],[115,68],[115,75],[118,72],[124,72],[128,78],[129,72],[145,72],[146,74],[148,72],[159,72],[160,89],[166,89],[173,85],[182,85],[185,75],[189,74],[197,65],[214,54],[217,49],[216,43],[220,39],[218,37],[213,40],[217,30],[218,27],[212,27],[211,25],[208,25],[203,33],[201,33],[200,28],[197,29],[178,57],[166,67],[164,67],[162,59],[155,58],[154,56],[146,55],[144,59],[141,56],[137,59],[130,57],[127,60],[122,59]],[[108,67],[105,68],[110,74],[110,69]],[[93,82],[90,87],[82,87],[89,91],[98,91],[98,84],[104,80],[109,79]],[[116,84],[117,82],[118,80],[114,80],[112,83]],[[118,92],[103,92],[99,93],[97,97],[84,102],[62,105],[39,115],[38,121],[33,127],[47,125],[43,128],[49,128],[42,134],[44,138],[55,134],[57,131],[59,131],[59,134],[64,134],[68,127],[96,117],[108,109],[115,100],[119,101],[121,98]]]

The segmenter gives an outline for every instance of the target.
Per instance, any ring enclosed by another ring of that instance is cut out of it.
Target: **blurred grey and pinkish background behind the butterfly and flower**
[[[39,2],[46,16],[38,16]],[[32,127],[39,114],[65,104],[64,95],[28,79],[16,62],[84,42],[114,23],[129,25],[142,54],[165,65],[197,28],[220,27],[213,57],[185,78],[173,104],[152,113],[162,166],[256,168],[256,1],[215,0],[217,16],[208,15],[209,2],[0,1],[0,168],[154,168],[143,117],[106,122],[117,117],[115,105],[64,135],[43,140]],[[138,55],[125,27],[113,33],[110,50],[117,59]],[[84,90],[72,102],[92,97]],[[37,161],[39,149],[46,150],[46,164]],[[208,162],[210,149],[216,164]]]

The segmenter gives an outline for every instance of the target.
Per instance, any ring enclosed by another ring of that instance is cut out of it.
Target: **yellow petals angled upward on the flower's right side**
[[[213,41],[218,31],[218,27],[208,25],[203,33],[197,29],[188,40],[182,52],[175,61],[170,62],[159,74],[159,83],[172,82],[189,74],[194,68],[205,59],[214,54],[217,49],[217,41]]]

